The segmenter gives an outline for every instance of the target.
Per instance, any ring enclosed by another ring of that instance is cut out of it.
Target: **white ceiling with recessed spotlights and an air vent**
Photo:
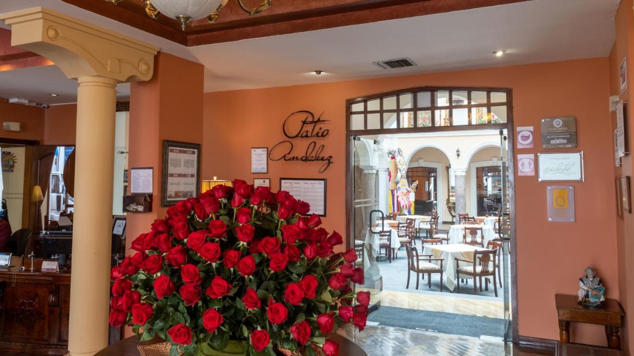
[[[150,42],[204,64],[210,92],[608,56],[619,2],[534,0],[192,48],[60,0],[2,0],[0,13],[44,6]],[[493,56],[498,49],[507,54]],[[372,64],[402,57],[418,66],[382,70]],[[317,76],[313,70],[325,73]],[[74,82],[56,68],[11,72],[0,72],[0,97],[16,96],[8,95],[13,90],[42,103],[74,101]],[[52,89],[61,95],[48,96]],[[129,87],[118,90],[126,95]]]

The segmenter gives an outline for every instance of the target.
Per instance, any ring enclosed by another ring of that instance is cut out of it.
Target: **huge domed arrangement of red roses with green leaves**
[[[172,356],[236,347],[337,356],[328,336],[342,323],[363,330],[370,293],[353,293],[350,282],[363,284],[356,252],[334,253],[342,236],[309,210],[286,191],[241,180],[170,207],[113,267],[110,324],[132,326],[141,340],[159,336]]]

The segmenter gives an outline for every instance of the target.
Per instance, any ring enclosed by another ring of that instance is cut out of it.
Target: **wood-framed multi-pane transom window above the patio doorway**
[[[508,91],[422,87],[349,101],[351,130],[505,124]]]

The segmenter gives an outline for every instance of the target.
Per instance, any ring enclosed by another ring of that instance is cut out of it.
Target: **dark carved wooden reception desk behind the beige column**
[[[0,350],[26,353],[68,353],[70,269],[41,272],[42,260],[25,258],[25,272],[13,257],[11,269],[0,270]],[[120,340],[121,329],[110,330],[110,343]]]

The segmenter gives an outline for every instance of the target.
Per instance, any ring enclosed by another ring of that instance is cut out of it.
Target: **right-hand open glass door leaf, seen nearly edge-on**
[[[508,169],[508,139],[507,130],[500,130],[500,161],[501,161],[501,201],[498,210],[498,237],[502,240],[502,257],[501,267],[503,276],[503,298],[504,298],[504,319],[506,321],[506,329],[504,333],[504,341],[512,340],[512,305],[511,305],[511,273],[510,273],[510,219],[511,204],[509,175],[513,174]]]

